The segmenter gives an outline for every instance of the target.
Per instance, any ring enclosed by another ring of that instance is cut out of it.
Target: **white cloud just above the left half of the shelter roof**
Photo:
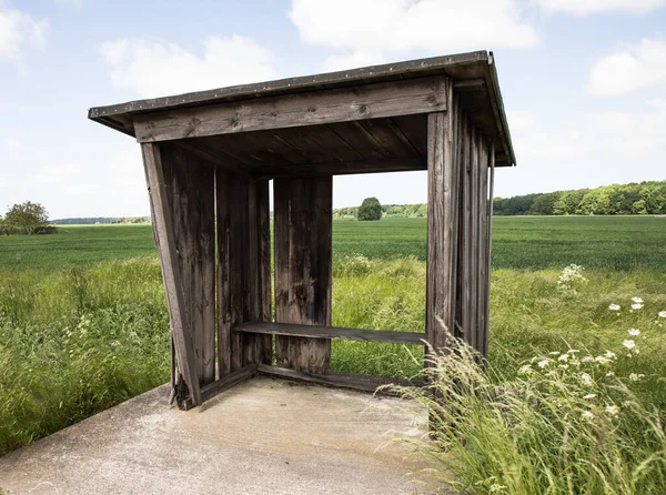
[[[140,97],[158,97],[275,79],[271,52],[249,38],[210,37],[203,55],[178,44],[147,40],[107,41],[101,53],[111,67],[115,88]]]

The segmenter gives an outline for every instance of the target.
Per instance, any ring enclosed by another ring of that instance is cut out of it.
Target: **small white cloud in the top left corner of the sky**
[[[20,59],[27,48],[42,49],[49,24],[0,0],[0,58]]]

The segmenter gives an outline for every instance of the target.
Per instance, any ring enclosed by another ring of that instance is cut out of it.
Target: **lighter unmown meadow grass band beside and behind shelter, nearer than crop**
[[[497,270],[492,280],[491,361],[505,370],[568,345],[620,351],[642,330],[638,394],[666,410],[666,275],[587,271],[577,291],[559,271]],[[630,312],[630,297],[645,306]],[[610,303],[619,312],[607,310]],[[423,331],[425,264],[417,260],[334,263],[333,323]],[[154,257],[48,274],[0,272],[0,453],[74,423],[168,380],[169,322]],[[411,376],[421,348],[335,342],[333,368]],[[414,358],[416,361],[414,361]],[[618,370],[624,372],[625,370]],[[626,370],[628,371],[628,370]]]

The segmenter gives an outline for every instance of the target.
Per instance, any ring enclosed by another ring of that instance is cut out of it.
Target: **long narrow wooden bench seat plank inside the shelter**
[[[246,322],[232,329],[233,332],[287,335],[312,339],[342,339],[362,342],[386,342],[392,344],[423,345],[422,332],[389,332],[382,330],[345,329],[342,326],[302,325],[294,323]]]

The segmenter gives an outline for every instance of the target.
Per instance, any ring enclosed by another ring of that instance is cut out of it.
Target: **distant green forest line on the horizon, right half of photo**
[[[333,211],[334,218],[356,216],[359,208]],[[496,215],[642,215],[666,214],[666,181],[602,185],[512,198],[495,198]],[[383,216],[427,215],[426,204],[383,204]]]

